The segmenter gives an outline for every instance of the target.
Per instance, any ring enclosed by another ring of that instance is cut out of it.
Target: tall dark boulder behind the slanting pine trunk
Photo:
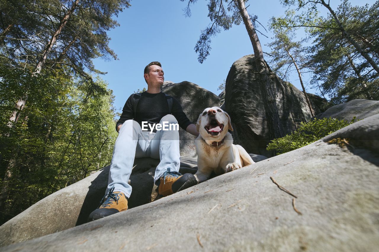
[[[233,63],[226,79],[224,108],[232,119],[234,142],[249,153],[271,156],[271,152],[266,151],[269,143],[266,114],[255,72],[254,55]],[[310,110],[304,93],[282,81],[271,70],[270,79],[284,133],[288,134],[296,130],[301,121],[311,118]],[[321,112],[319,103],[322,99],[310,95],[310,100],[316,114]]]

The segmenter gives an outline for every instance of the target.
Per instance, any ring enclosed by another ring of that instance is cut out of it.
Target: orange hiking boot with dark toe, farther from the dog
[[[128,209],[128,199],[125,194],[113,190],[114,187],[104,196],[99,207],[88,216],[88,221],[94,221]]]

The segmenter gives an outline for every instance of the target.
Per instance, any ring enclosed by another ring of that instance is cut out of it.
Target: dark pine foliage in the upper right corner
[[[336,11],[345,30],[360,44],[374,61],[379,61],[379,2],[368,5],[351,6],[344,1]],[[315,38],[310,48],[310,67],[315,77],[314,86],[319,84],[323,93],[333,104],[354,99],[379,99],[379,82],[376,71],[357,53],[338,29],[332,16],[319,23],[332,29],[316,29],[311,33]],[[376,27],[376,28],[375,28]]]

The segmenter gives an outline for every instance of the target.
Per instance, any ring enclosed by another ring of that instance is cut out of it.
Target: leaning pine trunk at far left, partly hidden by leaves
[[[55,42],[56,42],[58,36],[61,34],[64,26],[66,25],[67,21],[70,19],[71,15],[74,12],[78,3],[79,3],[79,0],[75,0],[75,2],[72,3],[72,6],[69,9],[69,11],[67,12],[67,14],[61,20],[60,25],[58,26],[58,29],[53,34],[52,38],[50,39],[49,44],[46,45],[45,50],[42,52],[42,56],[37,63],[37,66],[34,70],[33,75],[38,75],[39,73],[41,73],[41,70],[45,65],[47,56],[49,55],[51,49],[55,45]],[[14,123],[16,123],[19,120],[20,113],[23,110],[23,108],[25,107],[25,103],[27,100],[28,100],[28,95],[24,94],[23,97],[17,101],[16,106],[15,106],[15,110],[13,111],[11,117],[9,118],[9,122],[7,124],[7,126],[9,128],[13,128]],[[5,176],[4,176],[1,188],[0,188],[0,211],[2,211],[4,209],[5,201],[8,198],[9,182],[12,179],[11,171],[13,170],[15,164],[16,164],[16,154],[11,156],[11,159],[9,160],[8,166],[6,167],[6,170],[5,170]]]

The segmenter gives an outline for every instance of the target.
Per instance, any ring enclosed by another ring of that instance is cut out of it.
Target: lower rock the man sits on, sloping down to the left
[[[158,159],[135,159],[129,184],[133,193],[128,207],[153,201]],[[196,173],[197,159],[180,157],[180,173]],[[103,198],[108,185],[109,166],[38,201],[0,227],[0,246],[37,238],[86,223],[88,215]]]

